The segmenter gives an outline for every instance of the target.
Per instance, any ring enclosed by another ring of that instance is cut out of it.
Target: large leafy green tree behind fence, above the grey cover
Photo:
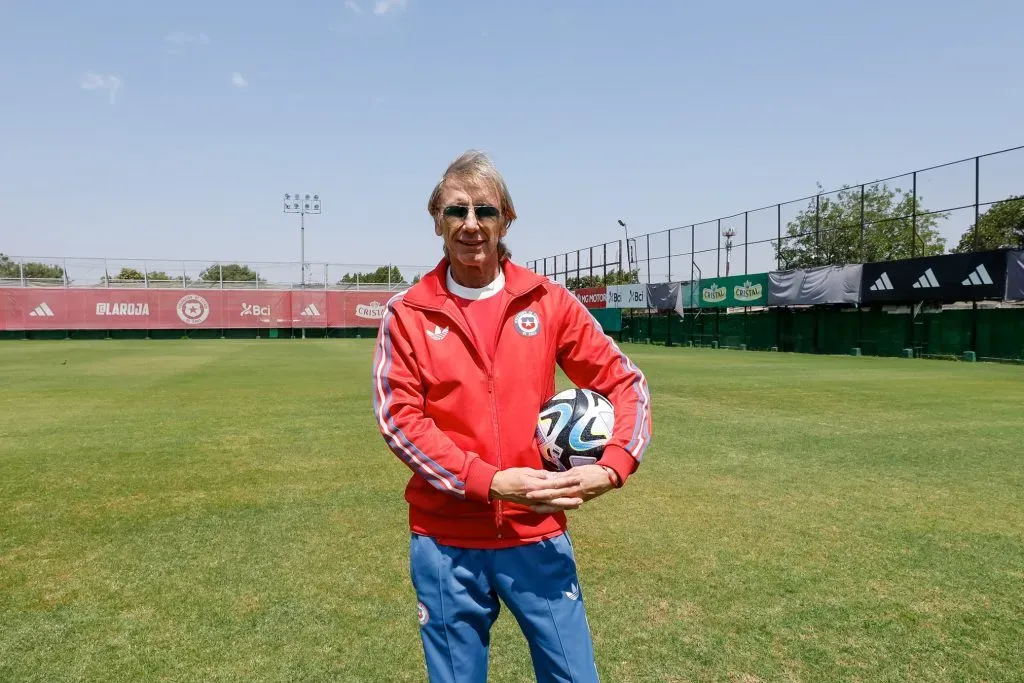
[[[916,221],[913,218],[915,211]],[[942,254],[946,241],[939,236],[936,225],[946,214],[924,214],[928,211],[921,205],[920,198],[915,200],[899,187],[878,183],[857,187],[846,185],[838,193],[812,199],[807,208],[786,224],[781,247],[774,241],[772,244],[778,249],[782,268]]]

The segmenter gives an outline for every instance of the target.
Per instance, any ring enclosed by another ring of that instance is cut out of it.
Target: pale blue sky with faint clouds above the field
[[[1019,0],[0,0],[0,251],[297,262],[299,190],[324,198],[307,260],[432,265],[426,199],[470,147],[517,260],[688,225],[1024,143],[1022,24]],[[1024,154],[983,176],[1019,191]]]

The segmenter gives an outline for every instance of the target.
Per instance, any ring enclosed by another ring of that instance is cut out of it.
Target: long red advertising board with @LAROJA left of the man
[[[377,327],[389,292],[0,289],[0,330]]]

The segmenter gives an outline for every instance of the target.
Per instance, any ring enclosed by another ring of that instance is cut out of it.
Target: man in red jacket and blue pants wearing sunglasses
[[[565,511],[636,471],[647,382],[571,293],[509,259],[515,209],[485,156],[457,159],[427,208],[444,258],[388,302],[373,380],[377,426],[413,470],[410,570],[430,680],[486,680],[501,601],[538,681],[596,681]],[[560,473],[534,436],[556,366],[615,410],[599,462]]]

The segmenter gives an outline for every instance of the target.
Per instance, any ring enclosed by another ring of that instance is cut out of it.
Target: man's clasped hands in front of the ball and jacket
[[[490,497],[525,505],[534,512],[551,514],[575,510],[611,488],[608,473],[600,465],[581,465],[566,472],[513,467],[495,474]]]

